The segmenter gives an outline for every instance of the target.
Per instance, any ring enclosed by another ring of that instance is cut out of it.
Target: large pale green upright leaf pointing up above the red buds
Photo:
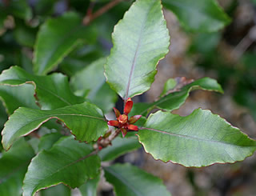
[[[105,66],[106,80],[123,99],[150,89],[170,37],[158,0],[138,0],[114,27],[114,47]]]

